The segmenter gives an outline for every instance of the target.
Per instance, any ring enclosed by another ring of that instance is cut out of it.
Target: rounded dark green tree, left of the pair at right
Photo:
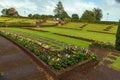
[[[81,17],[82,21],[95,21],[94,13],[90,10],[86,10]]]

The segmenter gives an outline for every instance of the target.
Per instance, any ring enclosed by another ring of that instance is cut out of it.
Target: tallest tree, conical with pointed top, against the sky
[[[59,18],[59,20],[64,20],[64,18],[68,16],[67,12],[64,10],[61,1],[59,1],[57,6],[55,7],[54,13],[55,13],[55,17]]]

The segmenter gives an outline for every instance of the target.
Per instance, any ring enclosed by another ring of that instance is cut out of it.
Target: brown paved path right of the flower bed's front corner
[[[120,71],[110,68],[109,65],[113,62],[105,59],[109,58],[111,60],[116,60],[116,56],[120,56],[120,53],[109,53],[111,53],[111,55],[105,55],[105,53],[98,55],[101,61],[97,66],[83,70],[82,72],[81,70],[78,70],[77,72],[72,73],[67,79],[63,78],[62,80],[120,80]]]

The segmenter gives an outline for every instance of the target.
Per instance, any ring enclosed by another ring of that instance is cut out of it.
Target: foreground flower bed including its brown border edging
[[[36,43],[17,34],[0,31],[0,34],[17,44],[49,74],[59,80],[76,70],[83,70],[95,65],[96,55],[88,49],[67,46],[61,51],[51,51],[50,47]]]

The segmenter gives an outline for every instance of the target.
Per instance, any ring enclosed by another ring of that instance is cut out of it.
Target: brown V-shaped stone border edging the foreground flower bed
[[[1,34],[0,34],[1,35]],[[11,41],[13,44],[17,45],[20,47],[23,51],[26,52],[26,54],[34,60],[38,66],[42,67],[47,73],[49,73],[55,80],[62,80],[62,78],[68,77],[68,75],[72,74],[75,71],[78,70],[84,70],[90,67],[93,67],[96,63],[93,62],[91,59],[82,61],[74,66],[68,67],[65,70],[62,71],[57,71],[57,70],[52,70],[45,62],[43,62],[41,59],[39,59],[36,55],[34,55],[33,52],[27,50],[17,42],[11,40],[10,38],[1,35],[2,37],[6,38],[7,40]]]

